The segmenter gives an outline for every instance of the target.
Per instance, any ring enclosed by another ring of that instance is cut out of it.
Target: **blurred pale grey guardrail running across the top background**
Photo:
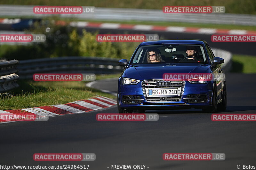
[[[0,5],[0,17],[33,17],[44,18],[56,14],[35,14],[30,5]],[[129,9],[129,8],[98,8],[92,13],[59,14],[61,18],[79,18],[93,20],[116,21],[162,21],[231,25],[256,25],[256,15],[248,14],[165,14],[162,10]]]

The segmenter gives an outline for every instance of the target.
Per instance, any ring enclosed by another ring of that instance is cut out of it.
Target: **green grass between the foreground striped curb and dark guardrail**
[[[50,106],[83,100],[96,94],[115,98],[85,86],[84,81],[18,81],[19,88],[0,98],[0,110]]]

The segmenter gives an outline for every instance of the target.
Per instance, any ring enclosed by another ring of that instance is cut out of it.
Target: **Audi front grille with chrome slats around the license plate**
[[[180,101],[183,91],[184,91],[184,87],[185,87],[185,81],[183,80],[170,80],[171,84],[166,83],[166,85],[168,86],[156,86],[156,82],[157,81],[165,81],[162,79],[152,79],[152,80],[144,80],[142,81],[141,85],[142,85],[142,89],[143,89],[143,93],[144,93],[144,97],[146,99],[146,101],[148,102],[170,102],[170,101]],[[178,94],[179,96],[148,96],[148,90],[146,90],[146,88],[171,88],[171,87],[176,87],[179,88]]]

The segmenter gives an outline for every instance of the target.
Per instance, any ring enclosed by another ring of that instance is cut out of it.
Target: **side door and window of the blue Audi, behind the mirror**
[[[206,44],[206,50],[212,64],[215,56],[208,44]],[[212,72],[215,75],[216,86],[217,86],[217,100],[219,100],[221,99],[222,92],[223,92],[223,85],[224,85],[222,81],[223,73],[222,73],[221,65],[217,64],[216,67],[212,67]]]

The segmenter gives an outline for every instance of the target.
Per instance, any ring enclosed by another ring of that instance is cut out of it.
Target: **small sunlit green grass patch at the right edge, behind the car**
[[[234,54],[232,62],[231,72],[256,73],[256,56]]]

